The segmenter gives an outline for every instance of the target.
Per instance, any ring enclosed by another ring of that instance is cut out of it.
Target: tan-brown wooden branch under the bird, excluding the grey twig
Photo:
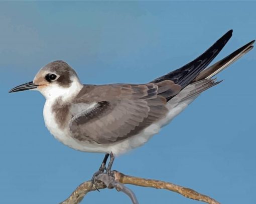
[[[143,187],[154,187],[157,189],[166,189],[166,190],[170,190],[173,192],[177,192],[185,197],[188,197],[188,198],[191,198],[194,200],[200,200],[200,201],[203,201],[203,202],[206,202],[209,204],[220,204],[218,201],[214,200],[213,198],[211,198],[207,195],[203,195],[199,192],[196,192],[193,189],[186,188],[186,187],[183,187],[180,185],[176,185],[176,184],[173,184],[170,182],[124,175],[123,173],[120,173],[118,171],[113,171],[113,172],[114,172],[115,181],[122,183],[122,184],[132,184],[132,185],[138,185],[138,186],[143,186]],[[113,188],[113,186],[109,187],[109,185],[108,186],[107,185],[101,181],[101,182],[97,183],[97,188],[98,189],[103,189],[106,187]],[[72,192],[72,194],[66,200],[61,202],[60,204],[78,204],[88,192],[96,190],[95,186],[93,186],[92,189],[90,189],[90,186],[91,186],[90,180],[81,183]]]

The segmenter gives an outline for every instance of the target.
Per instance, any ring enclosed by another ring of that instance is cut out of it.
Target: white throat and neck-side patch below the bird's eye
[[[57,84],[51,84],[42,89],[38,89],[46,100],[55,100],[61,98],[62,101],[67,101],[77,95],[83,88],[83,85],[77,78],[72,78],[72,83],[69,87],[61,87]]]

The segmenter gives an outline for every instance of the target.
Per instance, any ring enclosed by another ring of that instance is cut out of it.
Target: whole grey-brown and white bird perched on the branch
[[[82,84],[74,69],[58,60],[9,92],[41,92],[45,125],[57,140],[76,150],[105,153],[94,182],[99,173],[111,174],[116,155],[144,145],[202,92],[222,82],[216,74],[253,48],[254,40],[208,66],[231,36],[232,30],[195,60],[149,83]]]

